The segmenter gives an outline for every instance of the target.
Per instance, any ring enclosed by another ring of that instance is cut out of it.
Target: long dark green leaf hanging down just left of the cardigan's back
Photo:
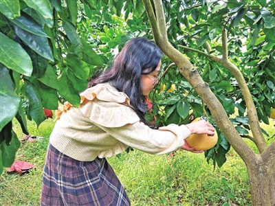
[[[32,83],[26,85],[25,94],[29,100],[29,114],[39,126],[47,117],[43,111],[41,96]]]

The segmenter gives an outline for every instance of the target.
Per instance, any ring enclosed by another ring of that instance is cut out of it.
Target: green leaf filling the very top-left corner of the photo
[[[7,16],[8,19],[15,19],[20,16],[19,0],[1,0],[0,12]]]

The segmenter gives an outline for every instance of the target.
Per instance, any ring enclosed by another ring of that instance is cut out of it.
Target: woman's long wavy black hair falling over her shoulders
[[[142,94],[141,77],[157,68],[162,55],[159,47],[147,38],[133,38],[124,45],[107,71],[89,80],[88,87],[109,82],[115,89],[122,91],[130,98],[135,113],[142,122],[146,123],[144,113],[148,111],[148,106]],[[145,69],[148,71],[144,72]]]

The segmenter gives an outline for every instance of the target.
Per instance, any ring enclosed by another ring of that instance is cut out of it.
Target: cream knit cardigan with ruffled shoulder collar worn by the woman
[[[118,155],[129,146],[155,155],[178,150],[190,130],[170,124],[151,129],[130,106],[129,98],[109,83],[80,94],[78,108],[68,102],[58,108],[50,143],[79,161]]]

